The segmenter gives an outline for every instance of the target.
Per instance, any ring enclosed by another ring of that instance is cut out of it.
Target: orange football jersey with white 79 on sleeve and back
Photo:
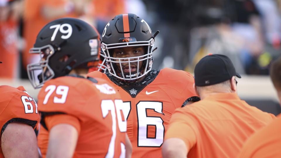
[[[49,128],[60,123],[78,130],[73,157],[124,157],[126,119],[122,118],[122,104],[116,90],[103,79],[69,75],[44,83],[38,94],[42,116],[38,146],[43,157]]]

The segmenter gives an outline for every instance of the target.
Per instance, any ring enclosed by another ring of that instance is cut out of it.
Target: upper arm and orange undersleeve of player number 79
[[[80,133],[78,118],[67,114],[57,114],[45,117],[44,121],[49,130],[46,157],[73,157]]]

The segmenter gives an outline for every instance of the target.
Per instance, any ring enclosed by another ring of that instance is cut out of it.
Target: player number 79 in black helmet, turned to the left
[[[27,69],[32,85],[42,87],[43,157],[130,157],[121,97],[107,81],[86,77],[99,50],[96,30],[74,18],[54,20],[37,35],[30,53],[41,60]]]

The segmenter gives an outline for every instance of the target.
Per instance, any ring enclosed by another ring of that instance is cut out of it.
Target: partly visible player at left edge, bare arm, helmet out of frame
[[[25,89],[0,86],[0,157],[38,157],[37,104]]]

